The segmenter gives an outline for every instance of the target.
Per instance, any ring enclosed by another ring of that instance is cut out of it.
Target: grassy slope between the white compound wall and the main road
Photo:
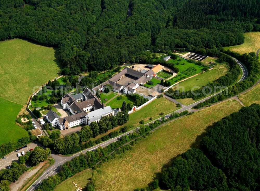
[[[122,126],[117,126],[116,128],[109,130],[108,132],[106,132],[104,134],[98,135],[95,138],[91,138],[91,140],[96,140],[100,137],[103,137],[104,135],[108,135],[112,131],[118,130],[125,126],[133,125],[133,127],[131,129],[134,129],[134,128],[140,126],[139,122],[141,120],[144,120],[145,123],[149,123],[150,121],[161,117],[162,115],[160,115],[160,113],[162,111],[164,112],[163,115],[166,115],[177,109],[179,109],[179,108],[176,107],[175,103],[167,100],[164,97],[155,99],[151,103],[145,105],[143,108],[136,110],[133,113],[129,114],[129,121],[126,124],[124,124]],[[150,117],[152,117],[152,120],[149,119]]]

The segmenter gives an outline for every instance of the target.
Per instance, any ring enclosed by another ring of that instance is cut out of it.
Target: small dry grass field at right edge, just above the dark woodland
[[[252,103],[260,104],[260,83],[250,91],[238,96],[238,98],[245,106],[249,106]]]

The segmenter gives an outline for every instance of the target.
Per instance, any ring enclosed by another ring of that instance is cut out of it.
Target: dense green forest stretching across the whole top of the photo
[[[56,47],[73,75],[132,63],[145,50],[241,44],[243,32],[260,30],[256,0],[0,0],[0,15],[0,40]]]

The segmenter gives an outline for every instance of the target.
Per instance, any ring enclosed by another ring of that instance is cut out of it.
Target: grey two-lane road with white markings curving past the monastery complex
[[[233,59],[235,59],[235,58],[233,58]],[[236,59],[235,59],[235,61],[236,61],[236,62],[238,63],[238,65],[241,67],[242,72],[243,72],[243,75],[242,75],[241,79],[239,80],[239,82],[241,82],[242,80],[244,80],[244,79],[247,77],[248,72],[247,72],[246,67],[245,67],[241,62],[239,62],[239,61],[236,60]],[[255,85],[256,85],[256,84],[255,84]],[[254,85],[254,86],[255,86],[255,85]],[[253,87],[254,87],[254,86],[253,86]],[[252,87],[251,87],[251,88],[252,88]],[[223,90],[223,91],[225,91],[225,90]],[[222,91],[222,92],[223,92],[223,91]],[[187,106],[185,106],[185,107],[183,107],[183,108],[180,108],[180,109],[178,109],[178,110],[176,110],[176,111],[174,111],[174,112],[180,113],[180,112],[183,112],[183,111],[185,111],[185,110],[191,110],[191,108],[194,107],[195,105],[197,105],[198,103],[201,103],[201,102],[203,102],[203,101],[205,101],[205,100],[208,100],[209,98],[211,98],[211,97],[213,97],[213,96],[215,96],[215,95],[218,95],[218,94],[220,94],[220,93],[222,93],[222,92],[219,92],[219,93],[216,93],[216,94],[214,94],[214,95],[208,96],[208,97],[206,97],[206,98],[204,98],[204,99],[202,99],[202,100],[199,100],[199,101],[197,101],[197,102],[195,102],[195,103],[193,103],[193,104],[191,104],[191,105],[187,105]],[[229,98],[229,99],[230,99],[230,98]],[[172,113],[174,113],[174,112],[172,112]],[[165,115],[165,116],[164,116],[165,119],[169,118],[172,113]],[[158,118],[158,119],[153,120],[152,122],[154,122],[154,121],[156,121],[156,120],[161,120],[161,117]],[[151,122],[150,122],[150,123],[151,123]],[[149,125],[149,123],[147,123],[147,124],[145,124],[145,125]],[[117,137],[115,137],[115,138],[109,139],[109,140],[107,140],[107,141],[105,141],[105,142],[102,142],[102,143],[100,143],[100,144],[98,144],[98,145],[95,145],[95,146],[93,146],[93,147],[87,148],[87,149],[85,149],[85,150],[83,150],[83,151],[81,151],[81,152],[78,152],[78,153],[76,153],[76,154],[74,154],[74,155],[71,155],[71,156],[68,156],[68,157],[63,156],[63,155],[57,155],[57,154],[55,154],[54,152],[52,152],[51,157],[53,157],[54,160],[55,160],[54,164],[53,164],[52,166],[50,166],[49,168],[47,168],[47,169],[44,171],[44,173],[40,176],[40,178],[38,178],[38,179],[33,183],[33,185],[31,185],[31,186],[27,189],[27,191],[33,191],[33,190],[37,189],[37,187],[41,184],[41,182],[42,182],[43,179],[47,179],[49,176],[52,176],[52,175],[57,174],[57,173],[60,171],[61,166],[62,166],[65,162],[70,161],[70,160],[72,160],[74,157],[77,157],[77,156],[79,156],[79,155],[82,154],[82,153],[86,153],[87,151],[94,151],[94,150],[95,150],[96,148],[98,148],[98,147],[105,147],[105,146],[107,146],[107,145],[109,145],[109,144],[111,144],[111,143],[113,143],[113,142],[116,142],[116,141],[118,141],[122,136],[124,136],[124,135],[129,135],[129,133],[133,133],[134,131],[138,130],[139,128],[140,128],[140,127],[135,128],[135,129],[133,129],[133,130],[131,130],[131,131],[128,131],[128,132],[126,132],[126,133],[123,133],[122,135],[119,135],[119,136],[117,136]],[[47,173],[48,173],[48,174],[47,174]]]

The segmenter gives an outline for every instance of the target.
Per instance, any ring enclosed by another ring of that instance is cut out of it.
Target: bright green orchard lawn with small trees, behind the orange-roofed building
[[[177,60],[170,59],[167,62],[174,63],[175,66],[177,68],[179,68],[179,70],[180,70],[180,72],[178,72],[178,75],[174,76],[173,78],[171,78],[169,80],[171,85],[176,83],[176,82],[178,82],[178,81],[180,81],[180,80],[183,80],[183,79],[185,79],[187,77],[190,77],[190,76],[192,76],[194,74],[198,74],[198,73],[202,72],[203,71],[202,69],[204,68],[204,66],[200,66],[200,65],[197,65],[195,63],[190,63],[190,62],[188,62],[187,60],[185,60],[183,58],[178,58]],[[184,63],[184,65],[183,65],[183,63]],[[190,73],[190,75],[183,74],[183,72],[185,72],[190,67],[194,67],[197,70],[192,72],[192,73]]]

